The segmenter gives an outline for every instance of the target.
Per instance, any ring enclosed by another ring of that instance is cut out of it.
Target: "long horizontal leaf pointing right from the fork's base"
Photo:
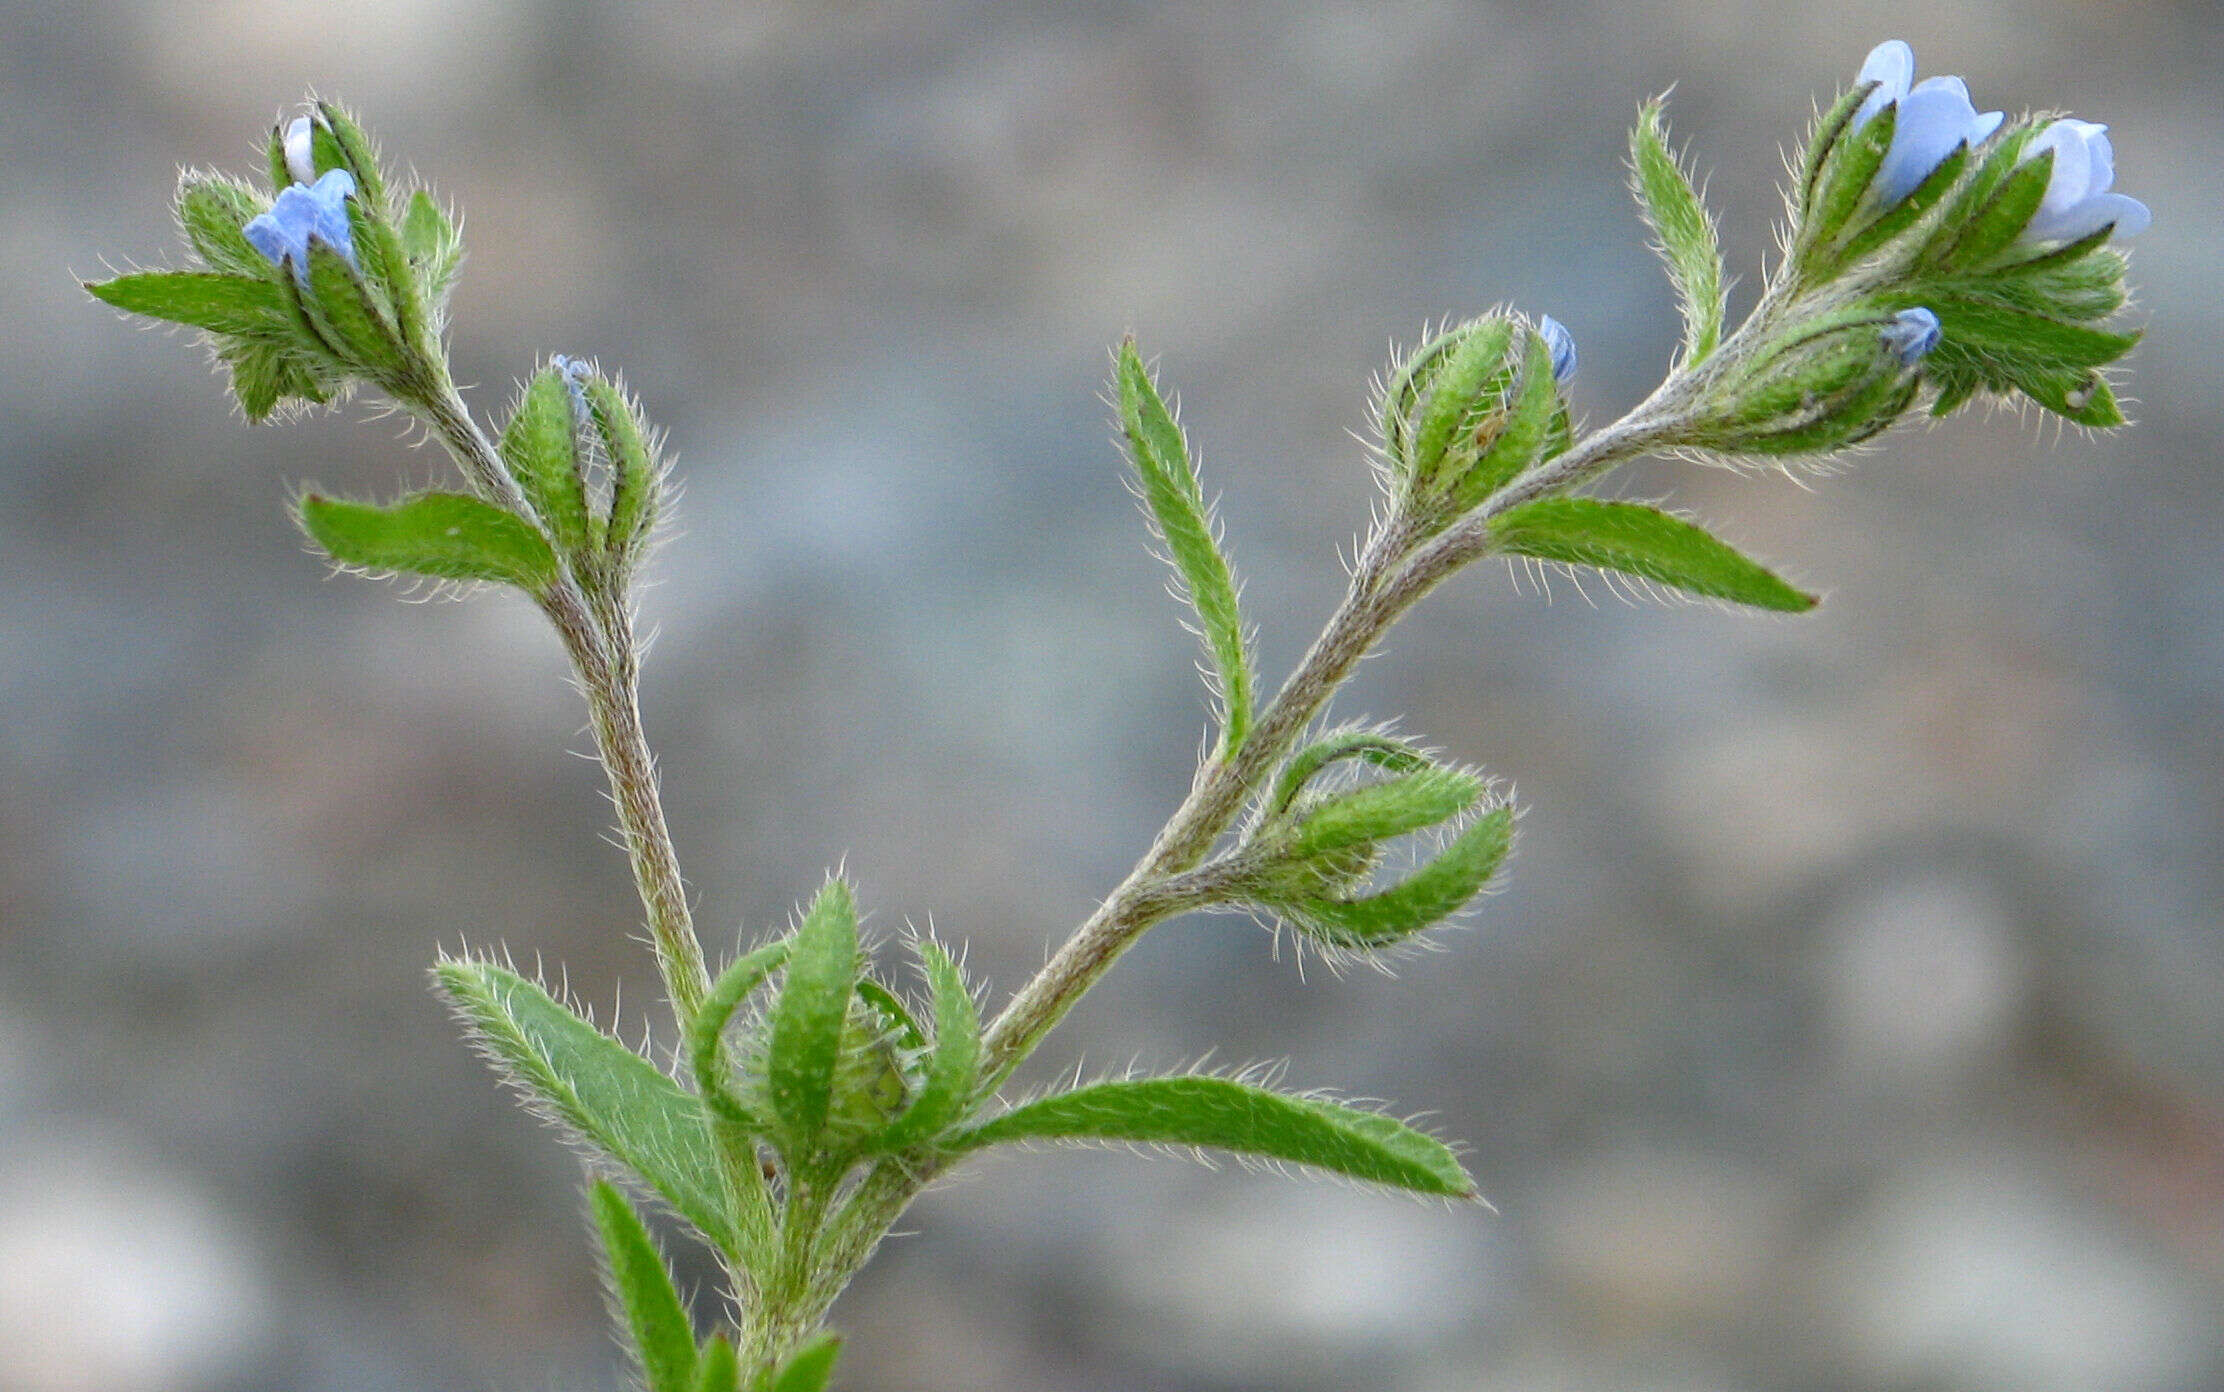
[[[1397,1190],[1475,1196],[1475,1181],[1441,1141],[1392,1116],[1234,1078],[1094,1083],[1012,1107],[954,1139],[959,1150],[1007,1141],[1197,1145]]]

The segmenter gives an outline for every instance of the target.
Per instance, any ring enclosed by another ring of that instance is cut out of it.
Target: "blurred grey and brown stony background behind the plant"
[[[620,367],[683,523],[647,614],[714,952],[832,863],[999,994],[1203,734],[1101,385],[1183,398],[1279,678],[1366,520],[1392,338],[1566,320],[1595,422],[1675,342],[1624,191],[1670,84],[1750,300],[1781,153],[1873,42],[2113,125],[2137,429],[1970,411],[1801,487],[1646,465],[1804,620],[1488,565],[1337,709],[1519,783],[1508,887],[1343,978],[1148,938],[1061,1067],[1288,1058],[1428,1110],[1499,1212],[1130,1154],[979,1163],[838,1308],[841,1385],[2224,1388],[2224,18],[2206,0],[354,0],[0,9],[0,1388],[614,1388],[576,1161],[436,947],[654,976],[556,645],[327,580],[249,429],[76,287],[305,87],[467,216],[456,360]],[[689,1279],[712,1308],[709,1267]]]

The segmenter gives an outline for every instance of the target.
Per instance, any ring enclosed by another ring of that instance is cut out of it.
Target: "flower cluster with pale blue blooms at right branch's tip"
[[[1915,51],[1888,40],[1824,116],[1801,165],[1790,256],[1766,314],[1744,334],[1744,358],[1773,367],[1717,369],[1710,416],[1739,422],[1724,431],[1737,451],[1759,449],[1748,440],[1764,405],[1795,402],[1797,429],[1766,418],[1766,434],[1808,454],[1875,434],[1888,425],[1882,411],[1913,405],[1924,389],[1933,414],[1993,391],[2079,425],[2122,425],[2102,369],[2137,334],[2104,325],[2126,298],[2124,256],[2111,242],[2153,218],[2113,191],[2106,127],[1979,111],[1962,78],[1917,82]],[[1906,374],[1913,391],[1870,398],[1864,389],[1859,400],[1879,414],[1824,429],[1810,407],[1830,396],[1830,382],[1797,378],[1826,365],[1837,382],[1864,378],[1839,349],[1813,347],[1855,325],[1868,327],[1868,351]],[[1732,380],[1759,398],[1728,400]],[[1777,454],[1775,445],[1761,451]]]

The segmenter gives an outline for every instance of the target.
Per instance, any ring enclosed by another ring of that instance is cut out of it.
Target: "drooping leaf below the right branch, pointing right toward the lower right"
[[[1701,527],[1641,503],[1539,498],[1495,518],[1490,536],[1515,556],[1595,565],[1759,609],[1804,614],[1817,603]]]

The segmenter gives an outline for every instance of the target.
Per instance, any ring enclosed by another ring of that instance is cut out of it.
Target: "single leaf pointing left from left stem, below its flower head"
[[[532,594],[556,578],[556,554],[525,518],[465,494],[414,494],[385,507],[309,494],[300,525],[327,556],[369,571],[500,580]]]

